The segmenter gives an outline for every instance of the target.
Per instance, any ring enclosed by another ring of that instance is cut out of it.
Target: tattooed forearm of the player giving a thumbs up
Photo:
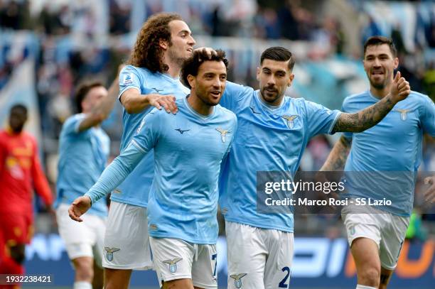
[[[394,103],[390,97],[385,97],[376,104],[373,104],[362,111],[354,114],[341,114],[338,121],[335,123],[333,132],[347,131],[360,133],[366,129],[370,129],[380,122],[394,107]]]

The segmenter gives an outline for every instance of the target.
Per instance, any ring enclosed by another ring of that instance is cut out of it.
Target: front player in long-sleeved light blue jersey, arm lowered
[[[155,174],[148,202],[148,229],[163,288],[218,288],[218,178],[222,158],[237,128],[235,115],[218,105],[225,90],[227,60],[195,51],[182,69],[190,87],[178,113],[147,114],[136,135],[84,197],[70,207],[80,216],[117,187],[154,148]]]

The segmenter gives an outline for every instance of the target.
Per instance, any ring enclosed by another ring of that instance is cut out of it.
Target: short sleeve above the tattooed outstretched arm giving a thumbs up
[[[331,134],[341,111],[331,110],[309,101],[305,101],[305,105],[309,138],[321,133]]]

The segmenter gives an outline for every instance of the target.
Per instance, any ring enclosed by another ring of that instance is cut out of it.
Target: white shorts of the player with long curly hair
[[[146,208],[110,203],[104,236],[104,268],[149,270],[154,268],[149,247]]]

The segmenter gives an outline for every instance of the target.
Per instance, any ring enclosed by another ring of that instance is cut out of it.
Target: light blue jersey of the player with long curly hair
[[[172,94],[177,99],[186,97],[189,93],[189,89],[183,86],[178,78],[174,79],[160,72],[152,73],[146,68],[127,65],[119,75],[119,96],[130,88],[138,89],[141,94]],[[139,114],[128,114],[124,109],[122,115],[124,131],[120,151],[128,145],[144,116],[153,108],[149,107]],[[129,205],[146,207],[153,176],[154,153],[151,150],[122,185],[114,190],[110,199]]]

